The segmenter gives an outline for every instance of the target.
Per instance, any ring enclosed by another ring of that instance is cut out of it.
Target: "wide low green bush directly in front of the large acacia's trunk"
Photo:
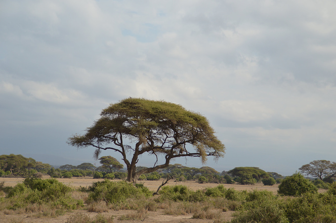
[[[127,198],[148,197],[151,193],[143,188],[137,188],[125,181],[112,182],[109,180],[95,182],[89,187],[88,201],[106,201],[108,203],[125,202]]]

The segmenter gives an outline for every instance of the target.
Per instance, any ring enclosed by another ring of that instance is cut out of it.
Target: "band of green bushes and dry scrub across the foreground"
[[[7,214],[35,213],[46,217],[63,215],[73,209],[100,213],[94,218],[73,214],[68,223],[112,223],[113,217],[103,214],[110,209],[135,211],[118,217],[119,221],[143,221],[150,211],[162,209],[166,215],[192,214],[194,219],[216,223],[225,223],[221,213],[227,211],[234,212],[231,223],[336,222],[336,184],[324,193],[314,188],[302,175],[294,174],[279,186],[279,194],[266,190],[238,191],[220,184],[196,191],[183,185],[163,186],[153,196],[142,184],[134,186],[126,181],[105,179],[87,188],[74,189],[56,179],[27,178],[14,187],[0,184],[0,191],[5,194],[0,198],[0,210]],[[285,189],[290,196],[284,193]]]

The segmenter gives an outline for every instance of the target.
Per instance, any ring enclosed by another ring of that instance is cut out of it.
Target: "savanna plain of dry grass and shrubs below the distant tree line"
[[[153,196],[162,181],[140,181],[137,187],[88,177],[1,178],[0,182],[5,191],[0,222],[6,223],[336,222],[336,196],[321,189],[293,197],[279,196],[278,184],[170,181]],[[8,193],[9,187],[14,189]]]

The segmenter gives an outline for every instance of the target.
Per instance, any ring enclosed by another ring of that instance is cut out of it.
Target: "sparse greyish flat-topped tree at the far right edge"
[[[329,160],[314,160],[299,168],[299,170],[312,177],[319,178],[320,180],[330,180],[336,176],[336,163]]]

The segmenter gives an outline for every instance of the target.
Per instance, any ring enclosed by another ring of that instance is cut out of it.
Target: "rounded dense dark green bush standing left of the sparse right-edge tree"
[[[300,196],[306,192],[315,193],[317,192],[317,187],[299,173],[285,178],[279,185],[278,190],[279,194],[289,196]]]

